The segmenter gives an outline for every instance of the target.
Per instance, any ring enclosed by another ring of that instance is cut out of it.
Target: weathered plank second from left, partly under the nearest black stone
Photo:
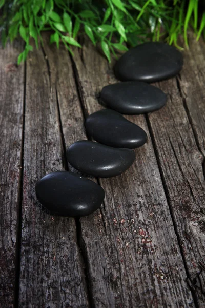
[[[32,43],[33,44],[33,43]],[[73,218],[51,216],[35,196],[45,174],[63,169],[55,83],[42,50],[26,69],[20,307],[87,307]]]

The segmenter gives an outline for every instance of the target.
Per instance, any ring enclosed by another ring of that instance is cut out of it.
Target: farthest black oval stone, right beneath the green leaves
[[[155,82],[175,76],[182,68],[182,53],[175,47],[149,42],[131,48],[114,66],[121,81]]]

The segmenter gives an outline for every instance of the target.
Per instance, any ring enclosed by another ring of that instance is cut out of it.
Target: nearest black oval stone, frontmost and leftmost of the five
[[[56,171],[36,185],[40,203],[63,216],[85,216],[98,209],[105,191],[94,182],[68,171]]]

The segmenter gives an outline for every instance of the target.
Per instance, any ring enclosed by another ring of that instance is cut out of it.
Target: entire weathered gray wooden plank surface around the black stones
[[[25,108],[24,64],[10,65],[20,46],[0,50],[0,306],[13,306],[16,285],[19,307],[205,307],[205,43],[191,36],[181,73],[156,84],[166,107],[126,117],[147,144],[124,174],[90,177],[105,202],[73,219],[49,214],[35,184],[51,171],[78,172],[66,148],[89,138],[85,119],[116,80],[90,41],[72,57],[43,39],[26,62]]]

